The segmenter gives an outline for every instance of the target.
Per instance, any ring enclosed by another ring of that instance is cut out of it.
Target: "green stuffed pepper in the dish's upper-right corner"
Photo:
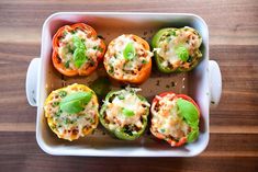
[[[152,41],[158,69],[165,73],[190,71],[202,59],[201,35],[191,27],[159,30]]]

